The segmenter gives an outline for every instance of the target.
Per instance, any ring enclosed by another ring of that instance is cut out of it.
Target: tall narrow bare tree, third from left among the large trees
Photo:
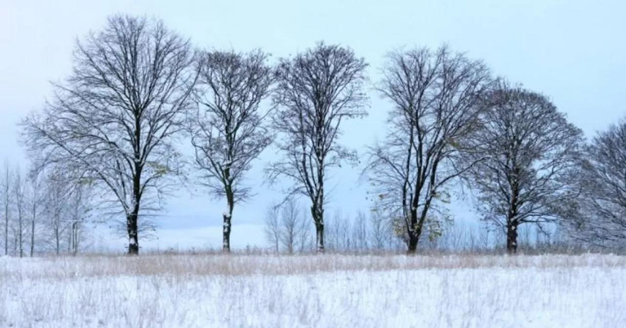
[[[280,59],[278,66],[273,126],[282,134],[277,147],[283,157],[267,167],[267,174],[270,182],[290,179],[289,196],[310,199],[318,252],[324,252],[326,175],[343,162],[356,162],[356,152],[339,144],[339,134],[342,121],[367,115],[366,67],[352,49],[324,42]]]

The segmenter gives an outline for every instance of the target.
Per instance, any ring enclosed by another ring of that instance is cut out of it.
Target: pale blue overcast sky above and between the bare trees
[[[262,47],[287,56],[320,40],[341,43],[366,58],[374,80],[394,47],[446,42],[484,59],[495,74],[550,96],[588,136],[625,109],[626,4],[620,0],[0,0],[0,159],[24,164],[16,122],[42,104],[49,81],[68,74],[74,38],[100,29],[116,13],[161,18],[200,47]],[[371,115],[344,125],[342,141],[349,146],[361,148],[384,132],[387,104],[371,96]],[[260,170],[272,156],[266,152],[250,172],[259,195],[235,208],[235,223],[262,222],[267,204],[279,199],[278,191],[259,186]],[[327,213],[352,213],[369,204],[358,173],[343,169],[332,176]],[[162,226],[220,224],[224,208],[181,194],[170,200]]]

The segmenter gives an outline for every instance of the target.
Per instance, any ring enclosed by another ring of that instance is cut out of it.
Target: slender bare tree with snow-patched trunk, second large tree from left
[[[269,111],[261,102],[269,96],[274,71],[268,55],[257,50],[203,52],[199,57],[200,103],[190,118],[195,162],[202,171],[200,184],[216,197],[225,197],[223,250],[230,251],[230,230],[235,203],[250,197],[243,186],[251,163],[273,140],[265,124]]]

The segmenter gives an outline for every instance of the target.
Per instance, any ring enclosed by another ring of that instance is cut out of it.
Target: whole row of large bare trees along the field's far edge
[[[37,170],[64,172],[126,217],[130,254],[139,252],[140,217],[192,176],[227,204],[228,251],[233,208],[252,195],[243,177],[270,144],[280,155],[267,180],[291,182],[285,199],[310,201],[320,252],[327,174],[361,160],[379,215],[409,252],[424,232],[441,234],[453,190],[463,185],[506,234],[510,252],[526,223],[566,222],[595,239],[610,223],[610,235],[623,236],[615,192],[624,180],[607,177],[619,167],[604,169],[598,159],[613,159],[626,141],[587,147],[546,96],[447,46],[420,47],[386,57],[374,86],[391,105],[387,134],[358,156],[339,135],[343,122],[367,115],[368,67],[351,49],[324,42],[276,64],[260,50],[197,50],[163,22],[114,16],[77,42],[71,74],[24,119],[21,142]],[[179,141],[193,146],[192,161]]]

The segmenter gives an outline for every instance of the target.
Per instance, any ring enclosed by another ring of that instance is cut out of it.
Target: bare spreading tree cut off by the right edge
[[[577,179],[582,194],[577,202],[575,239],[592,246],[626,247],[626,119],[597,132],[585,147]]]

